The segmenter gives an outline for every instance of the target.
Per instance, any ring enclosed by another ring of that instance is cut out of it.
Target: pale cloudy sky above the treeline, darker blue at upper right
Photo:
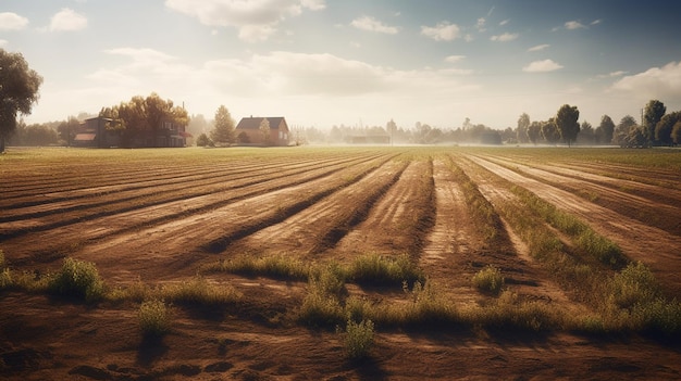
[[[27,123],[151,92],[289,126],[597,126],[681,110],[681,1],[0,0],[0,49],[44,77]]]

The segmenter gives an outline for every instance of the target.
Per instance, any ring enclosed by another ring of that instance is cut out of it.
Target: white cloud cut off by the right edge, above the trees
[[[643,98],[681,99],[681,62],[652,67],[616,81],[612,90],[630,92]]]

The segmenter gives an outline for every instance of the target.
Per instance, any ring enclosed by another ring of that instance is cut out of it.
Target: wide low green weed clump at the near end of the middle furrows
[[[357,257],[349,266],[348,279],[369,284],[413,284],[423,281],[423,271],[403,254],[397,257],[384,257],[379,254],[364,254]]]

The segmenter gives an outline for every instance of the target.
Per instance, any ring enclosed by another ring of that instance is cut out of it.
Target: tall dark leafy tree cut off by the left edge
[[[0,153],[16,129],[16,116],[30,114],[41,84],[42,77],[28,67],[21,53],[0,49]]]

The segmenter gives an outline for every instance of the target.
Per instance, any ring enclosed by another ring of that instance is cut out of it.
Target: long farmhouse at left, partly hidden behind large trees
[[[111,130],[107,127],[112,119],[97,116],[85,119],[74,139],[74,145],[90,148],[111,147],[185,147],[191,134],[186,132],[185,126],[161,122],[157,129]]]

